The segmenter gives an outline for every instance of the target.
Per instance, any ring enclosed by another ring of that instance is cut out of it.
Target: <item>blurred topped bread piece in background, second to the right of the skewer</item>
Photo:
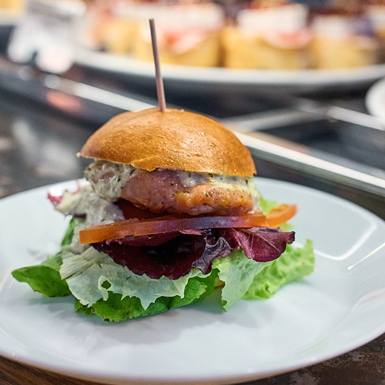
[[[224,66],[299,70],[309,66],[307,8],[284,4],[243,9],[222,33]]]

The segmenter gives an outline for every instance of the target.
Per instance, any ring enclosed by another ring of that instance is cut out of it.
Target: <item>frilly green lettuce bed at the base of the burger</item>
[[[264,212],[277,202],[261,198]],[[312,242],[303,248],[288,245],[272,262],[249,260],[243,250],[213,262],[212,272],[203,275],[193,269],[180,279],[150,279],[138,276],[127,267],[117,265],[108,255],[93,247],[82,254],[71,252],[73,233],[81,220],[71,220],[61,243],[61,251],[41,265],[14,270],[19,282],[28,283],[36,292],[48,297],[75,296],[75,310],[97,314],[110,322],[145,317],[168,309],[202,301],[212,294],[219,279],[222,307],[227,311],[239,299],[267,299],[283,284],[302,278],[314,269]]]

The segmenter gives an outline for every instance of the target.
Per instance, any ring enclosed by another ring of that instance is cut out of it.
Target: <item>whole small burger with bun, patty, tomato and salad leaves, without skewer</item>
[[[121,322],[215,288],[227,310],[313,270],[311,242],[294,249],[294,232],[279,228],[297,207],[260,197],[249,151],[215,120],[175,109],[122,113],[78,155],[93,159],[89,184],[48,195],[72,217],[60,252],[13,272],[48,296],[72,294],[76,312]]]

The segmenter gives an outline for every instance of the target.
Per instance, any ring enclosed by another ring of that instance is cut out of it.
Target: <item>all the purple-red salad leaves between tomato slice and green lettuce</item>
[[[284,252],[287,243],[293,241],[294,232],[252,227],[128,236],[94,243],[93,247],[135,274],[147,274],[153,279],[162,276],[178,279],[193,268],[209,274],[215,259],[227,257],[240,247],[247,258],[257,262],[275,260]]]

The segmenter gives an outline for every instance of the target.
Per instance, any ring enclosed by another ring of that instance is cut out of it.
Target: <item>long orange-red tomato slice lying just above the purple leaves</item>
[[[202,230],[218,228],[240,227],[275,227],[287,222],[297,213],[296,205],[280,205],[267,215],[256,212],[238,217],[164,215],[147,219],[131,218],[108,225],[96,225],[79,231],[80,242],[102,242],[104,240],[119,240],[126,235],[153,235],[165,232],[183,230]]]

